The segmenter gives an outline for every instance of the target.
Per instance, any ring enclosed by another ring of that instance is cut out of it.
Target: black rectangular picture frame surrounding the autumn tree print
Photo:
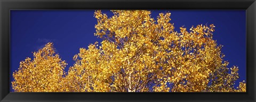
[[[10,92],[10,10],[246,10],[247,92]],[[255,101],[255,0],[0,0],[1,101]]]

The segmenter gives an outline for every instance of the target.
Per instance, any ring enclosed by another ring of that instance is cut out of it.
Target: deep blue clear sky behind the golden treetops
[[[151,10],[151,17],[159,13],[170,12],[171,23],[175,30],[180,26],[190,28],[198,24],[214,24],[213,39],[224,45],[222,52],[226,55],[229,66],[238,66],[239,82],[246,80],[246,11],[245,10]],[[102,11],[108,16],[110,11]],[[68,71],[75,61],[73,57],[79,48],[87,48],[90,43],[101,42],[94,36],[94,10],[59,10],[59,11],[11,11],[11,60],[10,81],[12,72],[18,70],[19,62],[26,57],[33,58],[33,53],[43,48],[47,42],[53,42],[54,48],[62,60],[67,61]],[[10,91],[13,91],[10,84]]]

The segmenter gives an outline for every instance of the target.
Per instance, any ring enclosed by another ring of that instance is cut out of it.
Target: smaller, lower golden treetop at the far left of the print
[[[12,87],[17,92],[59,92],[66,62],[55,54],[53,44],[34,52],[34,59],[20,62],[19,71],[13,72]]]

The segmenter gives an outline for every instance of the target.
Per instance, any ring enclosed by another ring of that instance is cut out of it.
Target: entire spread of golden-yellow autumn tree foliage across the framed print
[[[212,39],[214,25],[174,31],[171,13],[95,11],[94,35],[103,39],[81,48],[75,64],[54,52],[53,44],[34,52],[13,72],[18,92],[245,92],[238,67],[227,68],[221,45]]]

